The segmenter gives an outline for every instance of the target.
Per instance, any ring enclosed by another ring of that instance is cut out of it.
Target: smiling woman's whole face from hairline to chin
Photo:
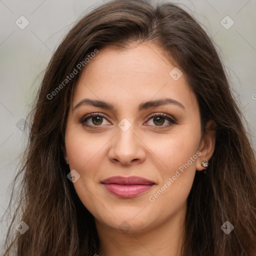
[[[184,216],[195,170],[209,159],[200,138],[195,95],[155,45],[104,48],[86,64],[65,147],[97,224],[138,232]]]

